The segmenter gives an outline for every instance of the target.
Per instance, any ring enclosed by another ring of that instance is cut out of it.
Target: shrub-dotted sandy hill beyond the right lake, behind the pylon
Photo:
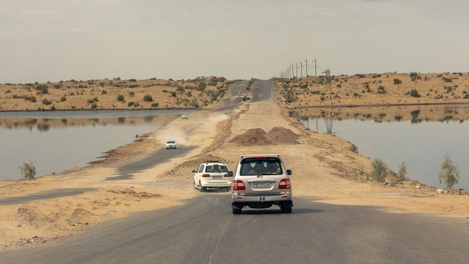
[[[469,74],[460,72],[283,78],[276,88],[288,107],[469,103]]]

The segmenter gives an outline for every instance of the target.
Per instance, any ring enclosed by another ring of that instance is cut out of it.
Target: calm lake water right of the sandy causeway
[[[379,157],[397,172],[430,186],[448,153],[459,169],[459,184],[469,189],[469,106],[354,107],[301,109],[294,113],[313,131],[333,133],[358,146],[362,155]]]

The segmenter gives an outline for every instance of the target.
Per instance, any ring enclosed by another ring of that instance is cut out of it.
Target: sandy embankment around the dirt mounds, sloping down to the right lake
[[[299,135],[300,144],[239,146],[229,141],[249,129],[270,131],[282,126]],[[314,201],[355,206],[378,206],[387,212],[432,213],[469,217],[468,195],[438,195],[433,188],[416,188],[416,183],[378,184],[364,173],[371,160],[351,151],[351,144],[334,135],[305,129],[289,118],[274,102],[250,104],[250,109],[232,124],[232,135],[212,154],[236,162],[243,153],[279,153],[292,170],[294,194]]]

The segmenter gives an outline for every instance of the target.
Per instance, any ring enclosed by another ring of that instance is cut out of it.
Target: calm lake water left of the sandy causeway
[[[36,177],[102,159],[190,110],[39,111],[0,113],[0,180],[21,179],[31,161]]]

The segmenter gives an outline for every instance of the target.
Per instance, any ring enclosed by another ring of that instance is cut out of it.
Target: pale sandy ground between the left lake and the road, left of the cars
[[[175,206],[197,195],[188,182],[190,175],[168,179],[165,172],[202,153],[215,139],[217,124],[227,118],[223,113],[199,111],[190,114],[188,120],[173,120],[141,141],[118,148],[105,162],[34,181],[1,181],[0,249],[46,243],[132,212]],[[107,180],[119,176],[119,166],[128,159],[138,161],[160,151],[161,143],[169,138],[188,151],[143,169],[131,179]],[[78,194],[54,197],[56,192]],[[49,198],[31,199],[30,195],[38,193],[49,194]],[[4,200],[11,197],[23,200]]]

